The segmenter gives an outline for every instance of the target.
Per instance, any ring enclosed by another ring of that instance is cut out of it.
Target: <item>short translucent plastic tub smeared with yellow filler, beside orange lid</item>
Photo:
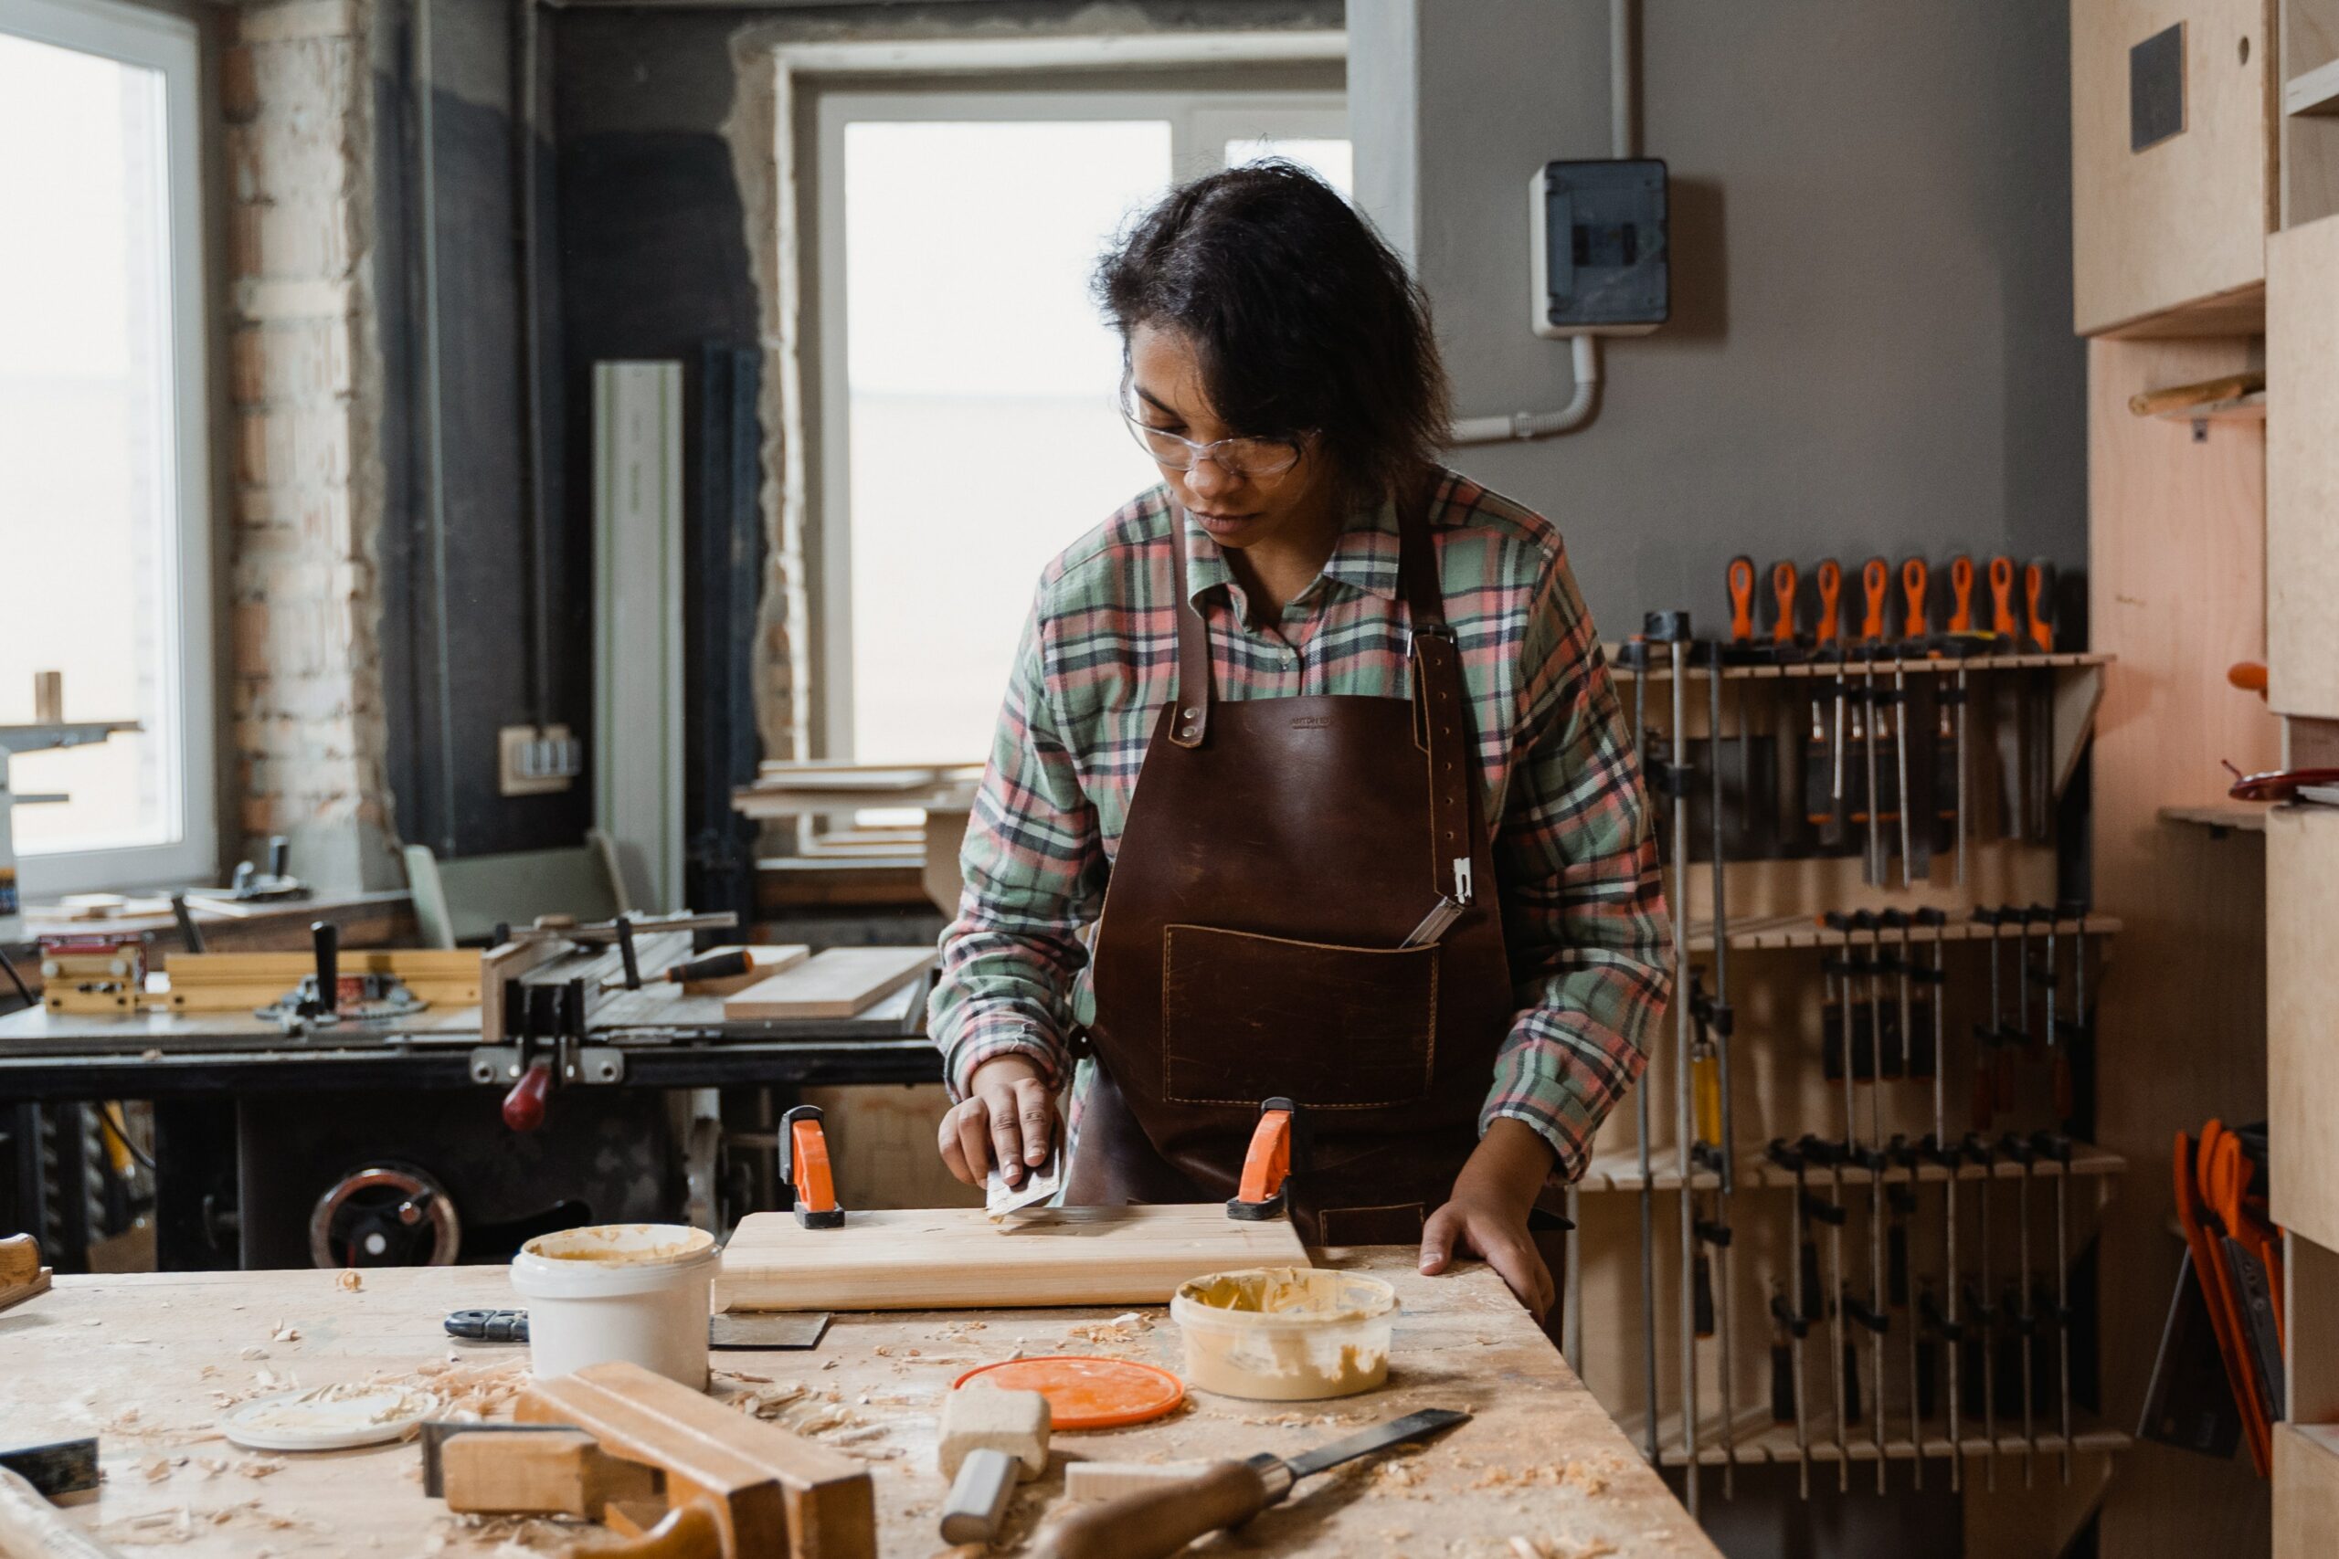
[[[1389,1379],[1396,1290],[1357,1272],[1247,1267],[1179,1286],[1186,1384],[1261,1402],[1312,1402]]]

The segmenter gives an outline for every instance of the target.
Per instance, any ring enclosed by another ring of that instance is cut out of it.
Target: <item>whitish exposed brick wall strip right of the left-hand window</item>
[[[234,14],[227,115],[234,542],[229,741],[246,853],[292,837],[337,888],[402,881],[379,668],[381,351],[372,0]]]

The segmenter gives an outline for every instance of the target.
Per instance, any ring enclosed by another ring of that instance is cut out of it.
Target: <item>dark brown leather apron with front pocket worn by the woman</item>
[[[1097,1075],[1067,1199],[1226,1199],[1258,1103],[1284,1094],[1303,1236],[1415,1241],[1478,1143],[1513,1017],[1427,505],[1399,505],[1410,699],[1216,701],[1177,510],[1170,556],[1177,697],[1097,921]],[[1403,947],[1441,900],[1460,916]]]

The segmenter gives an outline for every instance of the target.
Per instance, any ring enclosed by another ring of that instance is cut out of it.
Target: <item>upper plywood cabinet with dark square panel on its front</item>
[[[2269,0],[2072,0],[2079,334],[2252,334],[2274,227]]]

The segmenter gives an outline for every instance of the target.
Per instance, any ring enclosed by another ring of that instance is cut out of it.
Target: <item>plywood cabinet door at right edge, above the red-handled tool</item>
[[[2339,720],[2339,217],[2266,241],[2266,704]]]

